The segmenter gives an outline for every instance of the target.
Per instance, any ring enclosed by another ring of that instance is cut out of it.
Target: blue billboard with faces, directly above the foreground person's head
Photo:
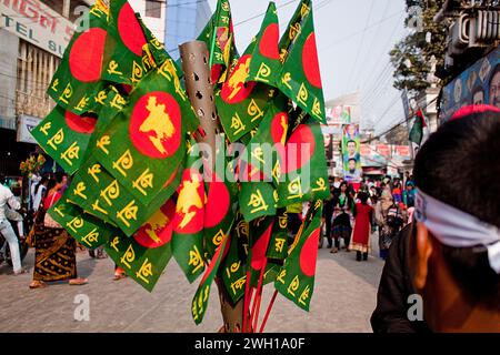
[[[500,108],[500,48],[477,61],[442,90],[440,121],[469,104],[487,103]]]

